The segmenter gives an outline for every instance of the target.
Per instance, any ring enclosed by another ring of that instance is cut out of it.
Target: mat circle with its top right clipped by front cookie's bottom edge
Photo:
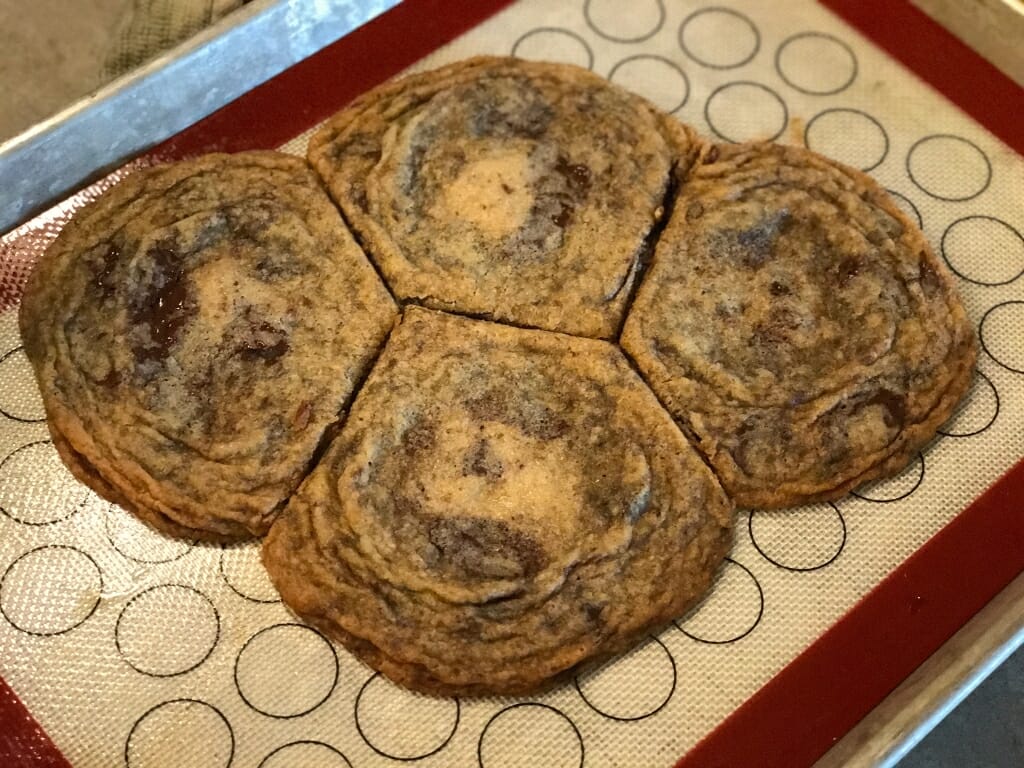
[[[355,728],[378,755],[420,760],[447,746],[459,728],[460,712],[458,698],[414,693],[378,672],[355,697]]]

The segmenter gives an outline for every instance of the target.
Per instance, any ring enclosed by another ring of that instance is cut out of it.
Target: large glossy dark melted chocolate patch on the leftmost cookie
[[[167,357],[191,308],[180,256],[166,245],[155,246],[146,255],[153,261],[151,282],[129,309],[132,323],[150,330],[148,340],[136,337],[133,344],[132,352],[139,362]]]

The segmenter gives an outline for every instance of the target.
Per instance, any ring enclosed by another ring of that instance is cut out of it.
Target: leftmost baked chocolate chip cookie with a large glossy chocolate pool
[[[267,152],[139,171],[84,208],[20,326],[76,476],[233,540],[266,531],[395,316],[313,172]]]

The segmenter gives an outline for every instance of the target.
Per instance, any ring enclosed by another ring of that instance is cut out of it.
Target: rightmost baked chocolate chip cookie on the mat
[[[949,273],[889,196],[768,143],[705,151],[622,343],[748,507],[895,473],[976,356]]]

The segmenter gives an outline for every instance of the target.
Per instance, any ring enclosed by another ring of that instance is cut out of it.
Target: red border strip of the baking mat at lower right
[[[1022,570],[1024,461],[726,718],[677,768],[811,765]]]

